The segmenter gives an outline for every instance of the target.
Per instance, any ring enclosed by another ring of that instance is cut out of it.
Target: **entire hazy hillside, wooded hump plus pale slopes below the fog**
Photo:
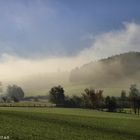
[[[139,62],[140,52],[129,52],[84,64],[70,72],[32,75],[15,83],[34,95],[46,94],[52,86],[59,84],[68,94],[79,94],[86,87],[119,88],[119,94],[131,84],[140,83]]]

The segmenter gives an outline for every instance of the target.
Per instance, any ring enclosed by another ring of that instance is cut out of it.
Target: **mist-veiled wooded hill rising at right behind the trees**
[[[72,83],[98,87],[128,86],[140,82],[140,52],[129,52],[90,62],[71,71]]]

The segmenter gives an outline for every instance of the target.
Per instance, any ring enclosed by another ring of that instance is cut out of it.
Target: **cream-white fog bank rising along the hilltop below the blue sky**
[[[125,23],[123,29],[96,36],[90,48],[73,57],[33,60],[5,53],[0,59],[0,80],[16,81],[33,75],[69,72],[90,61],[129,51],[140,51],[140,25],[136,23]]]

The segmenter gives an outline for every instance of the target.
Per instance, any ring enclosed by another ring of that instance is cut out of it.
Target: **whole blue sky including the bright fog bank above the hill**
[[[140,51],[139,13],[139,0],[0,0],[1,80]]]

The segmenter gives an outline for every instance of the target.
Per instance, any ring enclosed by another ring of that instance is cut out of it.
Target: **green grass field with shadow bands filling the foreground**
[[[0,136],[12,140],[139,140],[140,116],[65,108],[0,108]]]

